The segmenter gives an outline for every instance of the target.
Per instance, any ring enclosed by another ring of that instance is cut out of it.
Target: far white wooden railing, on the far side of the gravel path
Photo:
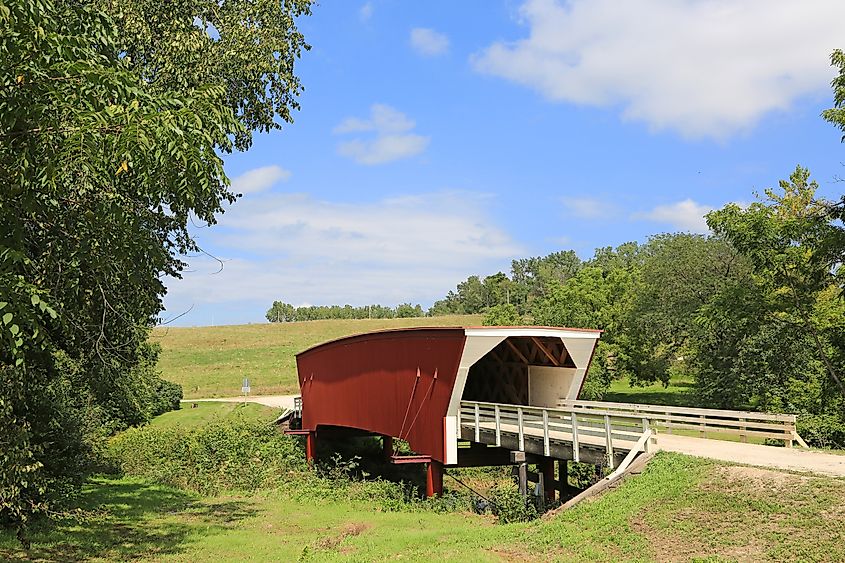
[[[783,440],[788,448],[792,447],[793,441],[807,447],[796,430],[794,414],[606,403],[604,401],[561,400],[558,404],[561,408],[584,414],[614,412],[647,417],[655,431],[665,431],[667,434],[677,429],[692,431],[702,438],[713,437],[714,434],[716,436],[726,434],[739,436],[741,442],[747,442],[749,437],[756,437]]]

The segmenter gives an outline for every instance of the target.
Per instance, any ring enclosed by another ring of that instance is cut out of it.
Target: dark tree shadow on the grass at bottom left
[[[29,550],[11,535],[0,536],[0,560],[156,559],[184,552],[191,535],[214,535],[257,514],[244,501],[201,501],[177,489],[108,477],[85,487],[79,507],[81,517],[33,526]]]

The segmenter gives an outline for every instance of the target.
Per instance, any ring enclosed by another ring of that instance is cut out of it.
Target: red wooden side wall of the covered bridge
[[[296,363],[303,427],[345,426],[402,438],[443,462],[443,417],[465,339],[463,328],[403,329],[302,352]]]

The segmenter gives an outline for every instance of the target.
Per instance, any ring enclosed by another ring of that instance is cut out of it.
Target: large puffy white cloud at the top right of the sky
[[[829,90],[842,0],[528,0],[528,37],[472,57],[476,70],[551,100],[619,106],[688,137],[724,138]]]

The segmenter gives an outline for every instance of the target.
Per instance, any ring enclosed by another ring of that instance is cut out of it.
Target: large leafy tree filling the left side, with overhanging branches
[[[82,474],[85,417],[146,412],[161,278],[235,199],[221,153],[290,119],[308,10],[0,0],[1,523]]]

